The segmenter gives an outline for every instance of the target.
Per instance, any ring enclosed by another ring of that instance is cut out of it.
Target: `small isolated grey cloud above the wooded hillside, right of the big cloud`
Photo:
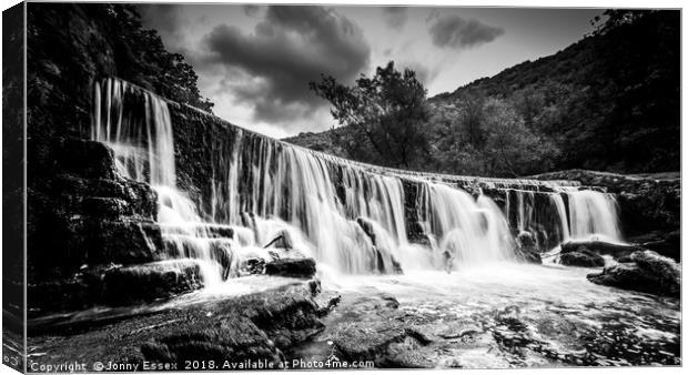
[[[502,28],[475,19],[466,20],[456,14],[433,17],[431,21],[434,23],[429,28],[429,33],[433,43],[439,48],[467,49],[489,43],[504,34]]]

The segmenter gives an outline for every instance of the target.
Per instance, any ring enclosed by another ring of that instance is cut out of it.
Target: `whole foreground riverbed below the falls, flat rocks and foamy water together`
[[[34,320],[28,363],[680,365],[680,301],[596,285],[589,272],[509,263],[452,274],[321,272],[322,283],[242,277],[164,303]]]

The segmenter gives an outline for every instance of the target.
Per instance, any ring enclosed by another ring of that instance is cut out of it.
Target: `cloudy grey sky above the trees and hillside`
[[[213,112],[274,138],[331,129],[321,74],[353,84],[394,61],[428,97],[556,53],[600,9],[143,4],[145,27],[182,53]]]

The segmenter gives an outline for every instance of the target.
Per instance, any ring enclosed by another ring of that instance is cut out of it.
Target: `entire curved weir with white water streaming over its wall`
[[[221,281],[220,263],[231,276],[271,251],[361,274],[512,261],[526,232],[542,250],[569,239],[621,241],[614,195],[575,182],[353,162],[118,79],[97,83],[93,98],[93,140],[114,150],[123,175],[158,192],[165,253],[202,261],[206,284]],[[280,236],[289,245],[264,247]]]

